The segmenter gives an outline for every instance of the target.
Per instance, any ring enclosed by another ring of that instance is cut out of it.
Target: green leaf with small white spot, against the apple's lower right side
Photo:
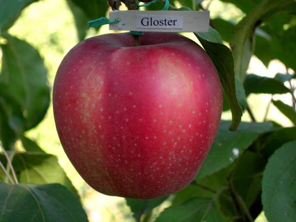
[[[211,175],[231,164],[260,134],[272,128],[269,122],[241,122],[236,131],[230,132],[227,130],[228,124],[229,121],[221,121],[216,139],[196,176],[197,179]]]

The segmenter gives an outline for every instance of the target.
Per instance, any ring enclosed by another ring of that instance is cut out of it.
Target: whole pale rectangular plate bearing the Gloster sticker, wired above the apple
[[[143,32],[208,32],[209,11],[111,11],[110,30]]]

